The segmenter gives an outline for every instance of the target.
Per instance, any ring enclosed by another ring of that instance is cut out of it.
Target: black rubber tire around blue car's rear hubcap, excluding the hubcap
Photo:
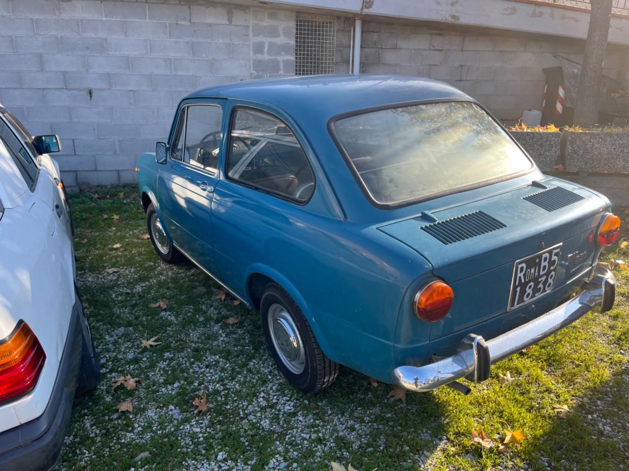
[[[276,304],[281,305],[292,318],[304,347],[304,369],[299,374],[286,367],[272,339],[269,328],[269,308]],[[264,330],[264,337],[271,354],[277,367],[292,386],[304,393],[317,393],[330,386],[337,379],[338,363],[330,360],[323,353],[301,309],[281,286],[276,283],[267,284],[262,294],[262,300],[260,300],[260,315],[262,317],[262,330]]]

